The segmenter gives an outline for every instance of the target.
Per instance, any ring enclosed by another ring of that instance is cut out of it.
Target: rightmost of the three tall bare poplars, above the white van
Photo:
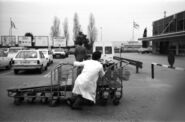
[[[90,46],[92,47],[94,42],[97,39],[97,29],[95,27],[95,19],[92,13],[90,14],[90,17],[89,17],[88,39],[89,39]]]

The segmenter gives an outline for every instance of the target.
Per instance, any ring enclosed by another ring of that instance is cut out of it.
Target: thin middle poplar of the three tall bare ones
[[[77,40],[77,36],[80,32],[80,24],[78,20],[78,14],[75,13],[74,15],[74,24],[73,24],[73,40],[74,42]]]

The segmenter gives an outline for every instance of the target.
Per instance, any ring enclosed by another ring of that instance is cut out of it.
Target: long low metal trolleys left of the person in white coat
[[[76,68],[68,63],[62,63],[50,72],[50,76],[49,85],[8,89],[8,96],[14,98],[15,105],[20,105],[23,101],[33,103],[40,100],[41,103],[49,103],[50,106],[56,106],[61,99],[71,97]]]

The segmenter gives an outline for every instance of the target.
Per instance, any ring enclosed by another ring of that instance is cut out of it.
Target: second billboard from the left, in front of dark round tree
[[[31,46],[31,37],[28,36],[18,36],[19,46]]]

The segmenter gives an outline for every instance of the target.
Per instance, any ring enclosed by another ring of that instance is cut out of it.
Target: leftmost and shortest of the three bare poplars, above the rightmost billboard
[[[57,37],[60,35],[60,19],[54,17],[53,26],[51,26],[51,37]]]

